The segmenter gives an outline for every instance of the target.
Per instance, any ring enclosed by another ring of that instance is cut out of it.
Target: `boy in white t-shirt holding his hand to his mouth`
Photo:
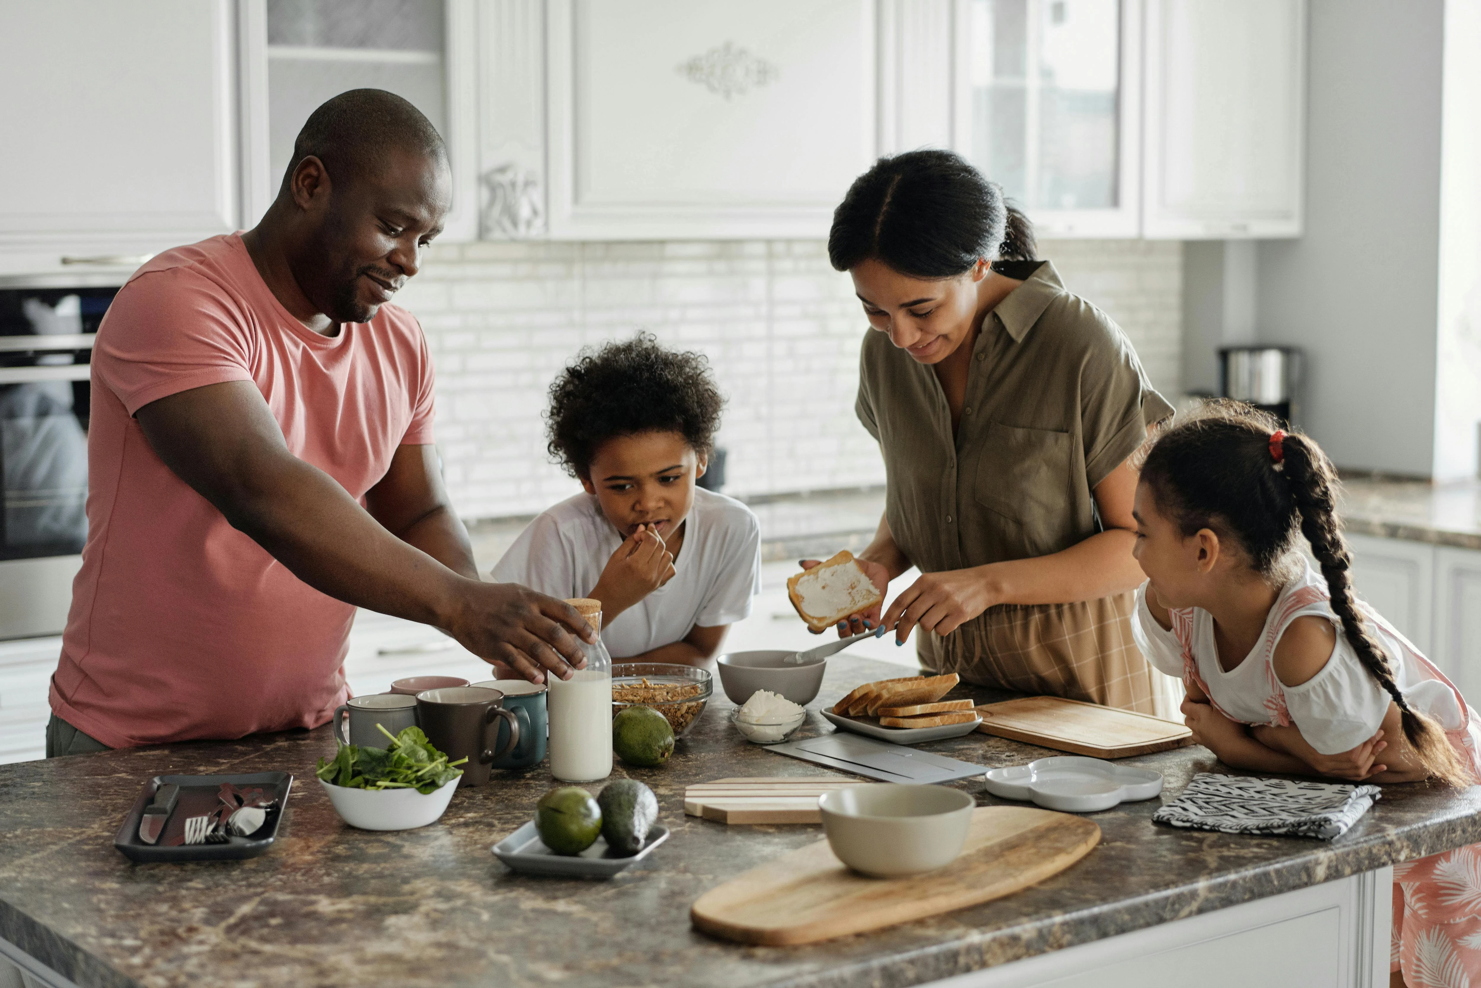
[[[584,351],[549,394],[551,455],[584,492],[530,521],[493,578],[600,600],[613,658],[708,664],[761,593],[761,527],[695,484],[724,403],[705,357],[641,333]]]

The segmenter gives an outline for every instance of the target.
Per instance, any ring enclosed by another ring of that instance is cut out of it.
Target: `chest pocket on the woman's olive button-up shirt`
[[[1025,533],[1059,533],[1071,514],[1074,437],[1056,430],[988,424],[977,452],[977,504],[1020,523]]]

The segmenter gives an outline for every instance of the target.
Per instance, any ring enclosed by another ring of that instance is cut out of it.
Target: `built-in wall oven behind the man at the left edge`
[[[116,292],[0,289],[0,638],[67,624],[87,539],[89,360]]]

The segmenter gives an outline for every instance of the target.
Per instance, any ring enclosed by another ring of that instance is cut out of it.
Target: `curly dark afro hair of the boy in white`
[[[708,456],[724,398],[703,354],[666,350],[652,333],[584,350],[551,382],[546,435],[551,456],[584,478],[615,435],[678,433]]]

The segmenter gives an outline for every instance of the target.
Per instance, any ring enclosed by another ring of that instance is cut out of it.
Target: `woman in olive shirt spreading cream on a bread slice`
[[[881,591],[923,573],[840,632],[883,621],[905,644],[918,627],[929,670],[1170,715],[1176,683],[1131,643],[1142,575],[1126,461],[1173,409],[1130,341],[1038,259],[1003,190],[949,151],[860,175],[828,258],[869,320],[855,409],[887,481],[859,560]]]

